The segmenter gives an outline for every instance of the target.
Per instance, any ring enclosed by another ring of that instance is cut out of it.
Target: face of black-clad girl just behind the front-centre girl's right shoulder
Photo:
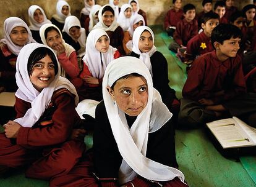
[[[153,37],[150,32],[144,31],[142,35],[140,35],[139,40],[139,49],[140,52],[149,52],[153,47]]]

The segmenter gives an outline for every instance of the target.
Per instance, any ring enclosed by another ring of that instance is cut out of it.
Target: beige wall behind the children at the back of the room
[[[27,10],[28,7],[30,7],[33,4],[37,4],[38,6],[41,6],[47,15],[47,17],[50,19],[51,15],[55,13],[55,7],[56,7],[57,0],[1,0],[0,1],[0,38],[3,36],[2,31],[2,25],[4,23],[4,20],[7,17],[15,16],[20,17],[26,22],[28,21],[28,15]],[[83,0],[67,0],[69,2],[71,7],[71,13],[72,15],[79,16],[80,10],[83,8]],[[108,3],[108,0],[95,0],[96,3],[104,5]],[[127,1],[119,0],[120,6],[124,3],[127,3]],[[140,8],[147,12],[148,17],[148,23],[149,25],[159,25],[163,23],[163,18],[167,10],[170,9],[171,1],[170,0],[139,0],[140,2]],[[194,1],[183,1],[183,4],[192,3],[195,4],[197,8],[197,12],[202,10],[201,2],[199,0]],[[213,1],[215,2],[215,1]],[[242,7],[245,4],[249,4],[252,2],[252,0],[243,0],[243,1],[236,1],[236,6],[239,7],[239,9],[242,9]],[[28,23],[28,22],[27,22]]]

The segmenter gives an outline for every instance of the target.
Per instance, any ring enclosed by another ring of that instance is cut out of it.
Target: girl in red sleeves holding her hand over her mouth
[[[69,44],[66,44],[62,39],[59,28],[53,24],[47,23],[41,26],[40,37],[43,44],[51,47],[57,55],[59,63],[61,64],[61,76],[67,77],[75,87],[79,87],[80,82],[77,77],[80,70],[75,49]]]

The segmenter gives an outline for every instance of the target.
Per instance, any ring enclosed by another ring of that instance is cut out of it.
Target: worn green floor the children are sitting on
[[[168,50],[171,41],[161,26],[153,26],[155,45],[168,60],[170,86],[181,98],[186,81],[186,65],[177,60]],[[92,146],[92,136],[87,137]],[[252,187],[256,186],[256,157],[241,157],[237,162],[221,156],[202,129],[176,130],[176,155],[179,169],[184,173],[189,186],[194,187]],[[24,177],[23,172],[0,179],[0,187],[6,186],[48,186],[48,182]]]

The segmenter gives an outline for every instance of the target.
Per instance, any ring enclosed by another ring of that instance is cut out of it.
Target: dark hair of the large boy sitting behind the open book
[[[211,44],[214,42],[223,44],[223,41],[231,38],[242,38],[242,31],[237,26],[222,23],[213,29],[211,33]]]

